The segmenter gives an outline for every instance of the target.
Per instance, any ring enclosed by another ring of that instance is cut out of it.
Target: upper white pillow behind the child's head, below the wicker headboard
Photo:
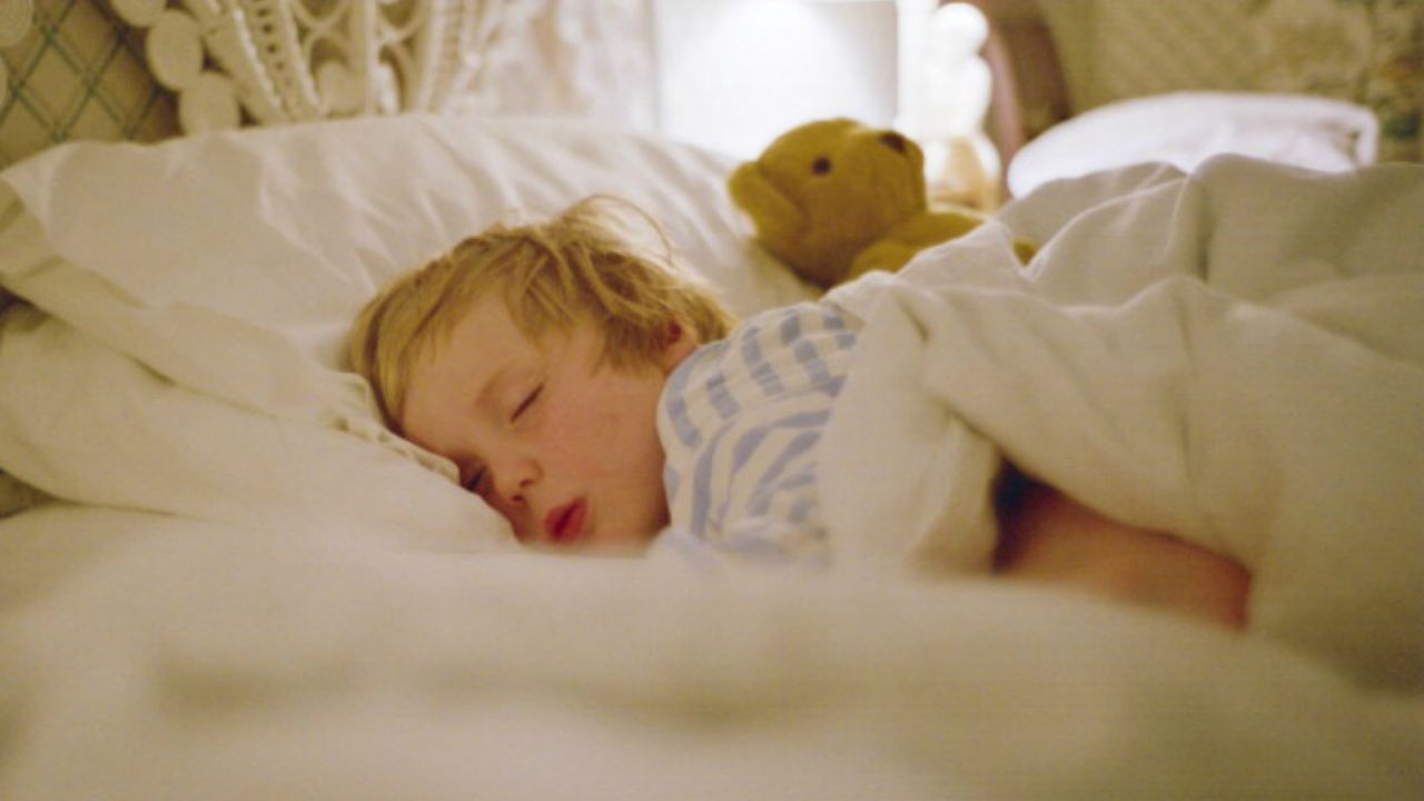
[[[740,314],[810,296],[750,244],[726,195],[733,165],[584,120],[403,115],[80,143],[0,177],[58,255],[138,298],[339,326],[376,285],[503,214],[594,192],[652,212]]]

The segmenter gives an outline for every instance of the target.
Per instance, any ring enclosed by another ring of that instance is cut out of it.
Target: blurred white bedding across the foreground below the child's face
[[[1418,798],[1424,700],[990,582],[0,520],[0,797]],[[38,569],[50,564],[48,580]]]

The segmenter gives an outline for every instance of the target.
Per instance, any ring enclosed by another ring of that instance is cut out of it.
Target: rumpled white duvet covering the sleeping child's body
[[[1024,272],[1011,227],[1047,244]],[[820,477],[844,549],[984,554],[993,442],[1245,563],[1253,631],[1424,688],[1424,168],[1049,185],[840,296],[870,319]]]

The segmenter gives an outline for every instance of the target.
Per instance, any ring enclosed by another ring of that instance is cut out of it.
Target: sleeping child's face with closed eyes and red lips
[[[531,342],[486,296],[416,362],[400,423],[521,542],[644,543],[668,522],[658,398],[693,345],[681,334],[655,365],[615,369],[591,322]]]

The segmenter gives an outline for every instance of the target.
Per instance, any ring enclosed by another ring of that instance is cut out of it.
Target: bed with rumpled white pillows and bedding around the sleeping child
[[[420,74],[478,93],[501,24],[565,6],[416,4],[484,48]],[[36,14],[141,64],[157,17],[115,7],[138,21]],[[414,56],[380,58],[439,61],[450,29],[423,14],[396,17]],[[574,41],[575,71],[598,63]],[[205,53],[212,77],[104,111],[108,138],[161,141],[6,140],[0,795],[1424,795],[1418,165],[1038,187],[844,291],[879,321],[859,412],[827,432],[847,569],[551,556],[384,430],[345,369],[350,319],[507,211],[590,192],[656,210],[740,314],[815,296],[750,241],[735,160],[637,114],[497,113],[380,70],[298,81],[343,98],[320,118],[258,111],[234,87],[261,81]],[[1015,237],[1041,245],[1028,268],[1005,267]],[[1218,537],[1256,572],[1252,627],[903,570],[897,536],[983,503],[954,465],[984,435],[1114,516]],[[953,480],[880,479],[906,465]]]

